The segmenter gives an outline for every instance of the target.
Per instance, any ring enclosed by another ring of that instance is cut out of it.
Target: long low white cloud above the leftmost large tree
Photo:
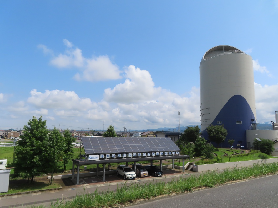
[[[32,90],[30,94],[31,97],[28,98],[28,103],[37,108],[86,111],[97,106],[90,98],[79,98],[73,91],[45,90],[42,93]]]

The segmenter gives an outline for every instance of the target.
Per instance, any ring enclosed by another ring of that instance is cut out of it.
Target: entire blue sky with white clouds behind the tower
[[[199,64],[253,58],[257,122],[278,110],[278,1],[1,1],[0,127],[200,125]]]

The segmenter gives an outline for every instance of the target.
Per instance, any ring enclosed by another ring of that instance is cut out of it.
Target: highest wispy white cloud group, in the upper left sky
[[[50,64],[57,68],[76,68],[79,70],[73,78],[81,81],[98,81],[98,80],[116,80],[122,78],[121,71],[116,64],[113,64],[107,55],[92,56],[85,58],[81,49],[75,47],[72,42],[63,39],[66,46],[64,53],[53,55]],[[45,45],[38,45],[45,54],[50,53],[51,50]]]

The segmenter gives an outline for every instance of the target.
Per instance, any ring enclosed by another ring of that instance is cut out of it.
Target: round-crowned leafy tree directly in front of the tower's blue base
[[[227,136],[227,129],[224,125],[210,125],[207,127],[207,133],[209,135],[209,140],[217,144],[217,150],[220,143],[224,142]]]

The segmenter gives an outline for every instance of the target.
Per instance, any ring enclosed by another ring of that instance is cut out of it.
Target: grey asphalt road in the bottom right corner
[[[132,208],[277,208],[278,176],[267,176],[201,191],[143,201]]]

